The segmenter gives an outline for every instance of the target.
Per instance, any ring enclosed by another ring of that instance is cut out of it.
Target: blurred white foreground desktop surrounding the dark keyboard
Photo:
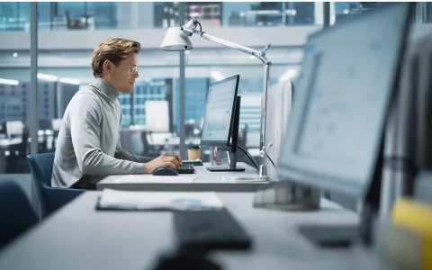
[[[99,194],[84,193],[6,247],[0,269],[151,269],[174,247],[171,212],[95,211]],[[297,231],[307,223],[356,224],[354,212],[327,200],[320,211],[269,211],[252,207],[252,193],[217,194],[254,240],[251,251],[213,254],[223,269],[358,269],[352,250],[315,247]]]

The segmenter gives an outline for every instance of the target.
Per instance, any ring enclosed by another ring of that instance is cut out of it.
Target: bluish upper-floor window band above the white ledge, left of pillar
[[[0,1],[0,31],[30,31],[29,1]],[[345,3],[345,1],[344,1]],[[166,28],[178,24],[175,0],[38,1],[40,31]],[[313,25],[313,1],[185,0],[185,19],[208,27]]]

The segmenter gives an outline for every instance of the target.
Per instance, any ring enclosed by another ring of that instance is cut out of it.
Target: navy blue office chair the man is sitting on
[[[40,193],[40,211],[42,219],[74,200],[84,192],[81,189],[51,187],[54,153],[27,156],[31,175]]]

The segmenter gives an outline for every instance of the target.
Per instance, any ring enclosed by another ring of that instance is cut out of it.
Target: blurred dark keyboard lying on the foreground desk
[[[248,249],[252,245],[246,231],[226,209],[175,211],[174,222],[180,248]]]

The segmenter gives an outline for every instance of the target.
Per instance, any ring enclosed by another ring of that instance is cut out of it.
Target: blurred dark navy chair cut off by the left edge
[[[0,250],[39,220],[23,190],[12,181],[0,183]]]

